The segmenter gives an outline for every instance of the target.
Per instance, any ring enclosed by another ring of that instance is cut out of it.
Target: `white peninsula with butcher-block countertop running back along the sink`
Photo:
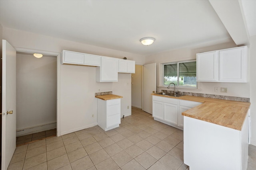
[[[184,163],[190,170],[246,170],[250,103],[196,96],[176,99],[202,103],[182,112]]]

